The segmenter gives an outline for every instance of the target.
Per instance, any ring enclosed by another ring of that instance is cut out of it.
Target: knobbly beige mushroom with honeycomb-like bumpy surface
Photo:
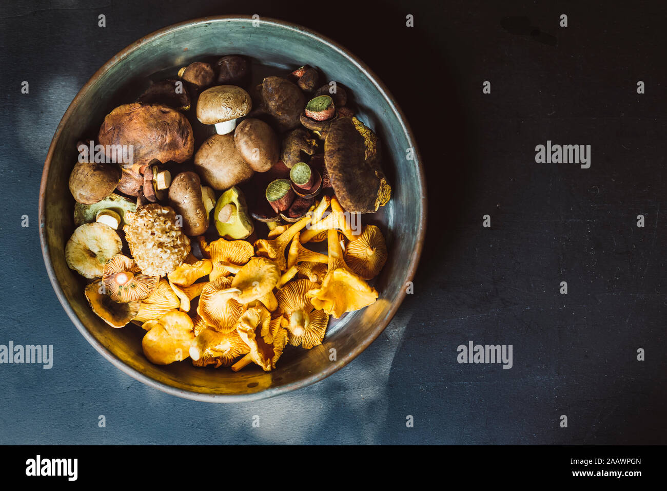
[[[190,252],[190,240],[169,206],[139,206],[125,214],[123,227],[129,250],[145,275],[163,277],[175,270]]]

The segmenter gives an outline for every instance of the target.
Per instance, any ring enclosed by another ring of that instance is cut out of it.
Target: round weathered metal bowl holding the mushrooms
[[[152,365],[141,351],[143,329],[112,329],[88,306],[85,281],[65,263],[65,242],[74,230],[73,199],[67,181],[76,161],[76,142],[97,133],[104,116],[131,102],[141,84],[155,74],[173,73],[191,61],[223,54],[249,55],[275,69],[303,64],[350,88],[362,121],[384,142],[384,168],[393,195],[381,213],[364,215],[380,224],[389,260],[375,287],[376,303],[348,313],[332,325],[322,345],[285,352],[277,369],[252,365],[238,373],[201,369],[189,360]],[[171,71],[171,72],[170,72]],[[412,148],[412,160],[406,152]],[[113,365],[135,379],[179,397],[199,401],[250,401],[315,383],[350,363],[382,332],[406,295],[422,251],[426,188],[420,156],[401,110],[382,82],[354,55],[333,41],[298,25],[251,17],[207,17],[165,27],[111,58],[83,86],[67,108],[51,142],[39,190],[40,240],[44,261],[58,299],[81,334]],[[330,359],[331,348],[336,359]]]

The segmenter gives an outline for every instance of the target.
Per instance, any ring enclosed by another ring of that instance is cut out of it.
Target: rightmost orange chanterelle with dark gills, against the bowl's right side
[[[366,225],[356,240],[348,242],[343,257],[346,265],[363,279],[376,277],[387,262],[387,245],[380,228]]]

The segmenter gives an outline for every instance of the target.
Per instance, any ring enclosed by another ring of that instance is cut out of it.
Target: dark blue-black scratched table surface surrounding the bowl
[[[502,3],[3,2],[0,344],[51,344],[54,360],[0,365],[0,443],[667,443],[665,7]],[[414,130],[430,200],[414,294],[384,333],[315,385],[225,405],[151,389],[83,339],[47,278],[37,197],[98,67],[155,29],[233,13],[366,61]],[[590,145],[590,168],[536,163],[547,140]],[[469,341],[512,345],[512,368],[458,363]]]

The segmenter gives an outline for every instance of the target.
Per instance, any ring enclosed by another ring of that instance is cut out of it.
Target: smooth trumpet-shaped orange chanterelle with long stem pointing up
[[[319,288],[307,293],[316,309],[338,319],[346,312],[362,309],[378,299],[378,291],[351,271],[343,259],[338,232],[329,230],[329,270]]]

